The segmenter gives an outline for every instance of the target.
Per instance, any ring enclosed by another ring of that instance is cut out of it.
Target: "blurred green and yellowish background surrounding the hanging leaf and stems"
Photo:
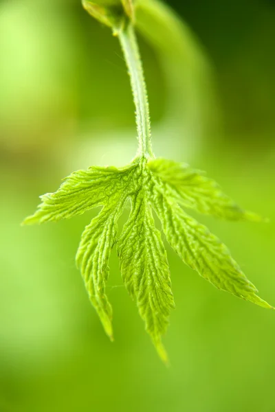
[[[214,85],[208,99],[197,84],[201,100],[190,113],[196,78],[186,95],[174,91],[186,107],[181,113],[177,104],[166,127],[167,73],[139,38],[155,153],[207,170],[243,207],[270,218],[263,225],[201,221],[274,305],[275,3],[168,3],[208,56]],[[208,119],[196,115],[199,104]],[[168,249],[177,307],[164,339],[166,369],[122,286],[115,253],[114,343],[89,304],[74,256],[93,213],[19,226],[64,176],[128,163],[135,147],[129,78],[109,30],[80,0],[1,0],[0,411],[274,412],[274,312],[215,290]]]

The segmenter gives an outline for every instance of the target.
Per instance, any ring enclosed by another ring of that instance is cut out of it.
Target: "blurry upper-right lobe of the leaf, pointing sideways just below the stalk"
[[[169,196],[182,206],[229,220],[262,221],[263,218],[241,209],[204,172],[166,159],[154,159],[148,167],[162,180]]]

